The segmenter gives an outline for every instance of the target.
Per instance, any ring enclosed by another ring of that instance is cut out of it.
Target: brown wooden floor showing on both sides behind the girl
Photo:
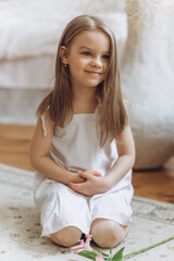
[[[33,171],[29,142],[34,126],[0,125],[0,162]],[[174,157],[162,170],[134,172],[135,195],[174,203]]]

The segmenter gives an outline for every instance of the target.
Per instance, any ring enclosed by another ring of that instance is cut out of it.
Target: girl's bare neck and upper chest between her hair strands
[[[73,113],[94,113],[98,104],[96,88],[73,90]]]

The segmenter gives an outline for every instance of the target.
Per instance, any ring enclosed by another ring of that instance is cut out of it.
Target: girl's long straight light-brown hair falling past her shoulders
[[[70,71],[69,66],[64,67],[62,63],[60,49],[62,46],[70,48],[73,39],[82,32],[94,29],[101,30],[110,38],[108,76],[97,88],[97,98],[100,104],[98,113],[102,133],[101,137],[103,141],[108,135],[112,138],[120,139],[120,134],[127,122],[127,115],[120,86],[116,44],[111,29],[96,16],[77,16],[65,27],[58,47],[54,88],[41,101],[37,110],[37,115],[42,114],[49,108],[51,120],[59,126],[63,127],[64,124],[72,120],[73,91],[70,80]]]

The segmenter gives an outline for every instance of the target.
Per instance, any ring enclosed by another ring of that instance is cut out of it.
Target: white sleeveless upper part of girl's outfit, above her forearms
[[[55,126],[49,154],[69,171],[90,170],[105,175],[119,156],[116,141],[108,138],[101,147],[100,137],[97,110],[95,113],[74,114],[71,123],[64,128]],[[129,174],[127,173],[128,176]],[[126,176],[117,184],[119,188],[122,187],[123,181],[124,185],[130,182]]]

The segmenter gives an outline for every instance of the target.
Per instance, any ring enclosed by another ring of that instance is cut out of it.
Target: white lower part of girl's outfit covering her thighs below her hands
[[[38,174],[41,175],[41,174]],[[121,225],[130,223],[133,186],[113,187],[105,194],[85,197],[67,186],[42,178],[35,188],[35,203],[40,212],[41,236],[50,236],[66,226],[76,226],[88,235],[96,219],[108,219]]]

